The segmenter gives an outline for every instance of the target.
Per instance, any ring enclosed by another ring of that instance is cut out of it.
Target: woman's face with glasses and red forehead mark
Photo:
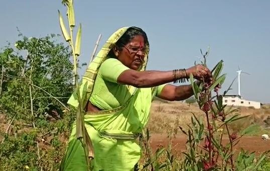
[[[145,54],[148,48],[145,47],[145,39],[143,36],[135,36],[129,43],[122,47],[121,51],[116,53],[118,60],[130,69],[138,70],[144,63]]]

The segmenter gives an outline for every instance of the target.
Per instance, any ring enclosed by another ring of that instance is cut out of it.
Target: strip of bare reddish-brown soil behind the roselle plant
[[[224,143],[228,142],[228,137],[223,137]],[[187,138],[184,135],[177,135],[172,139],[172,148],[177,153],[184,152],[186,150]],[[167,147],[169,138],[165,134],[151,134],[150,143],[153,151],[156,151],[160,146]],[[270,150],[270,140],[263,140],[260,136],[243,136],[239,143],[235,146],[237,151],[243,148],[249,152],[255,151],[256,154],[260,154],[266,150]]]

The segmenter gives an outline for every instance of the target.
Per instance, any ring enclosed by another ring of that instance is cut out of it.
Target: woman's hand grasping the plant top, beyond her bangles
[[[211,71],[201,64],[195,65],[186,70],[187,74],[192,74],[193,77],[199,81],[212,82]]]

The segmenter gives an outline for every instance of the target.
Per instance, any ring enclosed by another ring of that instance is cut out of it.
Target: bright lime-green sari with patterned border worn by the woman
[[[128,85],[120,85],[116,82],[104,81],[98,75],[99,69],[101,70],[102,67],[103,70],[104,68],[106,69],[105,63],[110,64],[110,62],[113,62],[113,60],[107,60],[108,52],[127,29],[127,27],[121,28],[110,36],[95,59],[88,66],[80,86],[80,94],[84,106],[90,99],[91,102],[94,102],[94,105],[102,108],[102,111],[87,112],[84,116],[85,127],[94,148],[94,158],[91,163],[94,170],[117,171],[133,169],[142,154],[141,147],[136,138],[148,122],[153,96],[163,88],[163,86],[136,88]],[[149,45],[146,46],[149,47]],[[148,54],[146,55],[146,62],[141,68],[141,71],[145,70],[147,59]],[[114,62],[117,62],[115,60]],[[102,66],[103,62],[104,65]],[[104,105],[102,99],[95,100],[95,89],[102,86],[105,87],[102,89],[105,97],[115,97],[106,99],[106,101],[110,104],[116,104],[116,106],[111,107],[108,105],[107,107]],[[113,91],[114,89],[116,90]],[[73,93],[68,103],[75,108],[78,107],[78,100],[75,93]],[[102,107],[102,105],[106,107]],[[75,123],[70,135],[66,154],[61,162],[60,170],[87,170],[83,147],[80,141],[76,139]]]

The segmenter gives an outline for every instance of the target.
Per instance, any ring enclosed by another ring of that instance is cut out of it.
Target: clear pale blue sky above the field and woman
[[[101,44],[122,26],[141,27],[148,34],[149,70],[187,68],[211,47],[209,68],[224,60],[227,87],[242,74],[245,99],[270,103],[270,1],[78,1],[77,23],[82,23],[81,62],[89,62],[98,35]],[[16,27],[27,37],[61,33],[57,10],[61,1],[3,1],[0,6],[0,47],[18,39]],[[80,71],[83,73],[85,68]],[[237,93],[237,82],[230,94]]]

